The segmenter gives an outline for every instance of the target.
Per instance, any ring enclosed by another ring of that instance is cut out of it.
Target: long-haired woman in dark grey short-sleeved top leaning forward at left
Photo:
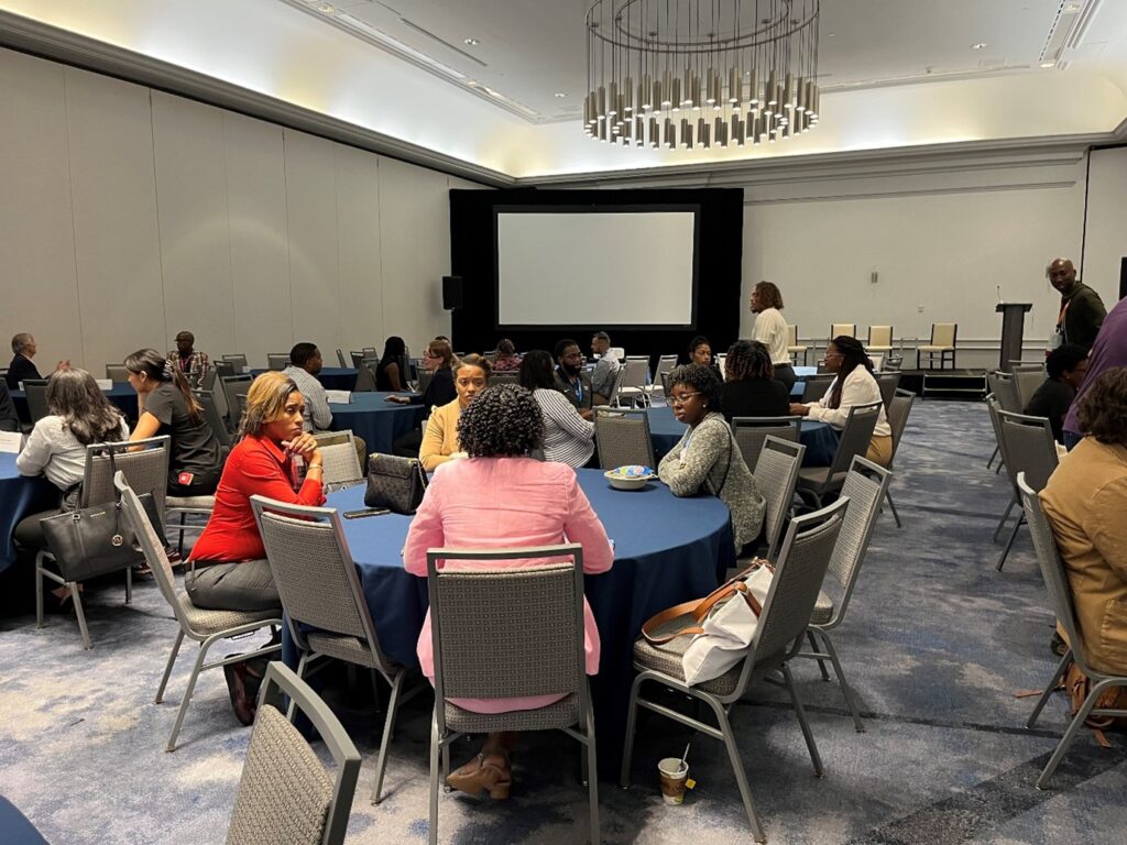
[[[130,439],[169,435],[168,495],[211,496],[223,469],[219,439],[184,373],[156,349],[133,353],[125,368],[140,415]]]

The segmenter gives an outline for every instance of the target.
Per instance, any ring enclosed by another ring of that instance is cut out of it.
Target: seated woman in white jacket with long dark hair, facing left
[[[790,412],[828,422],[840,432],[845,427],[850,408],[854,404],[880,402],[880,416],[877,417],[866,457],[887,466],[893,457],[893,429],[888,427],[880,385],[872,377],[872,362],[861,341],[846,335],[835,337],[826,349],[825,365],[829,372],[837,373],[826,394],[813,404],[792,403]]]

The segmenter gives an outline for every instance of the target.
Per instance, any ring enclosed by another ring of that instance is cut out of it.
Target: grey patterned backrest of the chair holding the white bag
[[[842,496],[833,505],[791,519],[752,641],[756,660],[787,653],[806,633],[848,506],[849,499]],[[740,681],[743,688],[746,684]]]

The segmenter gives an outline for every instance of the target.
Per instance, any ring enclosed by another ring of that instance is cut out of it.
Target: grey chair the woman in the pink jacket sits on
[[[431,730],[431,844],[438,842],[438,768],[450,773],[450,746],[463,733],[559,729],[580,745],[591,806],[591,843],[598,836],[595,715],[586,670],[583,546],[578,543],[505,550],[427,550],[434,641]],[[570,558],[560,562],[561,558]],[[518,569],[499,561],[551,559]],[[456,561],[456,568],[444,566]],[[468,567],[482,564],[477,569]],[[494,566],[490,566],[494,564]],[[481,620],[504,620],[481,641]],[[478,713],[452,699],[558,694],[534,710]]]

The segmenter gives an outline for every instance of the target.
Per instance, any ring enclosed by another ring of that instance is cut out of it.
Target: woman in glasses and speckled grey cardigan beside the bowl
[[[662,459],[657,475],[674,496],[716,496],[731,512],[738,553],[758,536],[766,501],[720,412],[720,381],[711,367],[689,364],[669,373],[669,404],[689,426]]]

